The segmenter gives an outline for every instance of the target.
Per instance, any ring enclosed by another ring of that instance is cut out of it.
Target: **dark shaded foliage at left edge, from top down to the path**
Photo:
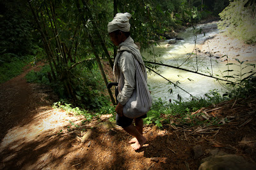
[[[27,13],[23,1],[0,2],[0,83],[22,73],[36,53]]]

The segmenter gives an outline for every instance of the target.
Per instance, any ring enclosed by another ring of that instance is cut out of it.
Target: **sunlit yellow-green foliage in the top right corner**
[[[219,29],[247,43],[256,43],[256,3],[252,0],[235,0],[220,13]]]

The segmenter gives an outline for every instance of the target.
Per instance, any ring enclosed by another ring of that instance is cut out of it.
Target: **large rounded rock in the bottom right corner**
[[[246,161],[242,156],[225,154],[223,152],[217,155],[211,155],[201,160],[201,165],[198,170],[248,170],[256,169],[256,164]]]

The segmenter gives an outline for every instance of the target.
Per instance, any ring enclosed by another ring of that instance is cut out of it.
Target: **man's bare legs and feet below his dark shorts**
[[[133,124],[124,127],[124,130],[137,139],[137,141],[131,145],[134,150],[140,149],[147,142],[147,138],[145,138]]]

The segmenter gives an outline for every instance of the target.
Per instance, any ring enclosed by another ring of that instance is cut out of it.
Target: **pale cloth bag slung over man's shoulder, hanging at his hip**
[[[152,97],[147,87],[147,82],[141,70],[138,60],[134,59],[136,67],[136,88],[134,89],[131,98],[124,106],[123,113],[125,117],[138,118],[147,113],[152,106]],[[118,81],[118,89],[124,87],[124,74],[120,73]]]

